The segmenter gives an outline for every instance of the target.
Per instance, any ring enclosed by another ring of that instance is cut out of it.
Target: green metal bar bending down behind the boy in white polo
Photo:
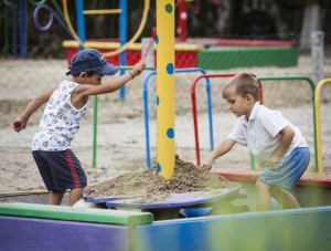
[[[259,81],[280,81],[280,80],[303,80],[307,81],[311,88],[311,101],[312,101],[312,116],[313,116],[313,150],[314,150],[314,169],[318,170],[318,148],[317,148],[317,137],[316,137],[316,107],[314,107],[314,91],[316,86],[311,79],[308,76],[301,76],[301,75],[289,75],[289,76],[258,76],[256,77]]]

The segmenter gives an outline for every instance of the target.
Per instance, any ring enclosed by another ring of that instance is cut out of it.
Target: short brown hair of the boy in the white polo
[[[236,92],[245,97],[250,94],[255,102],[259,101],[258,84],[257,81],[247,73],[239,73],[231,79],[222,91],[222,96],[225,98],[225,93],[229,87],[235,87]]]

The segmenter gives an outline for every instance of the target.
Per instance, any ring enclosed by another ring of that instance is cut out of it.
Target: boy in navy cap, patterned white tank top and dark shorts
[[[26,127],[30,116],[47,102],[38,132],[32,140],[32,155],[50,195],[50,205],[61,205],[63,196],[71,189],[68,205],[73,206],[82,197],[86,187],[86,175],[79,160],[71,149],[71,142],[77,133],[86,113],[89,96],[111,93],[139,75],[145,69],[139,61],[132,71],[102,84],[104,75],[114,75],[119,67],[109,64],[95,49],[86,49],[75,54],[71,61],[71,80],[35,97],[12,127],[20,132]]]

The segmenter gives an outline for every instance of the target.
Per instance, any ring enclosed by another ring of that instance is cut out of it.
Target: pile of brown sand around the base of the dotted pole
[[[235,188],[237,182],[210,172],[207,168],[197,167],[175,156],[173,176],[166,180],[153,167],[140,172],[129,172],[108,181],[84,189],[86,196],[93,197],[141,197],[139,202],[153,202],[169,198],[172,194],[209,191],[221,188]]]

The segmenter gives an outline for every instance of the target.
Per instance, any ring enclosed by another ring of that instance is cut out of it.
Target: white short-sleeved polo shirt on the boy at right
[[[258,102],[255,103],[248,122],[243,115],[227,137],[248,146],[255,160],[264,167],[279,145],[281,138],[279,132],[286,126],[295,130],[295,137],[285,156],[290,155],[297,147],[308,147],[298,127],[287,121],[280,112],[271,111]]]

